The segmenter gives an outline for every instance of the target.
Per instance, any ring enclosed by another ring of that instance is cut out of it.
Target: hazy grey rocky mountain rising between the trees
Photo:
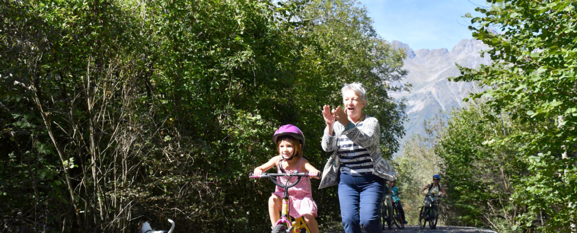
[[[406,135],[401,140],[409,140],[414,133],[424,135],[423,122],[432,118],[439,111],[450,112],[452,108],[464,106],[463,98],[470,92],[481,89],[471,82],[452,82],[447,78],[459,76],[460,72],[455,63],[465,67],[477,67],[480,64],[489,64],[490,58],[482,58],[479,51],[487,50],[488,46],[478,40],[461,40],[450,51],[447,48],[435,50],[421,49],[413,51],[409,45],[394,40],[394,46],[404,48],[407,58],[404,60],[404,69],[409,71],[407,77],[399,83],[413,85],[410,92],[391,93],[395,99],[406,99],[407,116],[405,123]]]

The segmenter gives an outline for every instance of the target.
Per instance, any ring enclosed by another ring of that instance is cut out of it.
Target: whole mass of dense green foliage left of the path
[[[321,168],[345,82],[398,149],[404,54],[371,24],[349,0],[3,0],[0,231],[265,231],[273,187],[248,173],[286,123]],[[334,189],[313,197],[321,227],[339,220]]]

